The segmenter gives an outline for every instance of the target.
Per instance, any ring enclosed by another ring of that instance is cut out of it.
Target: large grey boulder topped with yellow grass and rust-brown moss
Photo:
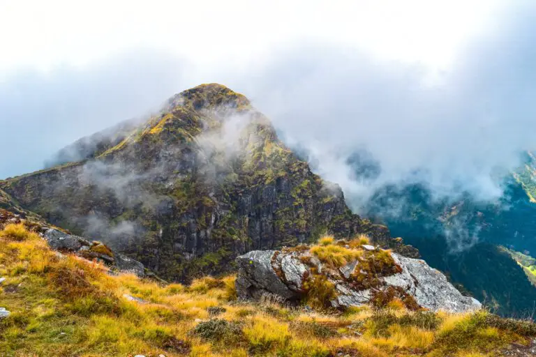
[[[255,250],[237,258],[239,274],[237,294],[241,298],[259,298],[275,294],[289,302],[307,301],[313,289],[332,289],[324,296],[326,307],[345,308],[364,304],[387,305],[397,299],[410,309],[466,312],[482,305],[462,294],[445,275],[421,259],[403,257],[370,245],[350,248],[338,241],[331,247],[303,247],[288,250]],[[354,257],[336,265],[333,257],[341,251]],[[318,252],[318,254],[315,254]],[[321,259],[324,259],[322,261]],[[320,281],[318,285],[315,281]]]

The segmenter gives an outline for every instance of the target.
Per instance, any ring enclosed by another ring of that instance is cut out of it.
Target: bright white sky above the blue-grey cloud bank
[[[463,43],[493,29],[498,0],[0,0],[0,76],[84,66],[137,47],[200,66],[262,66],[296,40],[359,47],[382,59],[448,68]]]

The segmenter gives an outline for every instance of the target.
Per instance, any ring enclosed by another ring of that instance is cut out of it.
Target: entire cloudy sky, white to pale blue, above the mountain
[[[532,1],[0,0],[0,178],[203,82],[241,91],[347,195],[419,169],[483,197],[536,144]]]

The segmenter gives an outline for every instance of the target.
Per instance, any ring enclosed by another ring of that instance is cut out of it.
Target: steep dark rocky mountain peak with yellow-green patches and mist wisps
[[[225,86],[179,93],[119,136],[112,147],[108,139],[84,146],[83,161],[0,188],[52,224],[105,241],[173,280],[225,271],[249,250],[325,232],[366,233],[384,248],[418,255],[386,227],[352,214],[341,189],[313,174],[269,120]]]

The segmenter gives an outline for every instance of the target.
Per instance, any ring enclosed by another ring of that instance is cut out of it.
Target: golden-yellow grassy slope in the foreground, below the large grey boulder
[[[107,275],[17,225],[0,231],[0,276],[0,306],[12,312],[0,321],[1,356],[493,356],[536,333],[486,312],[393,304],[336,314],[237,302],[232,277],[185,287]]]

